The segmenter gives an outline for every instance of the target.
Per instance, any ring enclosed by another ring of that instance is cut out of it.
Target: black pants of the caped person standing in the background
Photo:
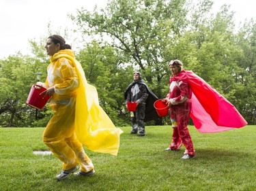
[[[131,118],[132,122],[132,133],[137,133],[139,135],[145,135],[145,103],[140,103],[137,105],[136,111],[134,111],[134,116]]]

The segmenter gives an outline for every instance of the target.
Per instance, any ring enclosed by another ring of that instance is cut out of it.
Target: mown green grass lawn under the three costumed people
[[[96,174],[57,181],[61,162],[36,156],[47,150],[44,128],[0,128],[0,190],[256,190],[256,126],[201,134],[189,126],[196,157],[181,160],[179,152],[164,152],[172,130],[146,126],[145,137],[122,128],[118,156],[85,152]]]

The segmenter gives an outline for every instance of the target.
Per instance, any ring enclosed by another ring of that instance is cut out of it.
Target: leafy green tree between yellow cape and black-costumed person
[[[91,41],[76,55],[81,62],[89,84],[96,86],[100,106],[117,126],[128,124],[124,101],[126,83],[130,82],[132,69],[119,66],[116,48]]]

